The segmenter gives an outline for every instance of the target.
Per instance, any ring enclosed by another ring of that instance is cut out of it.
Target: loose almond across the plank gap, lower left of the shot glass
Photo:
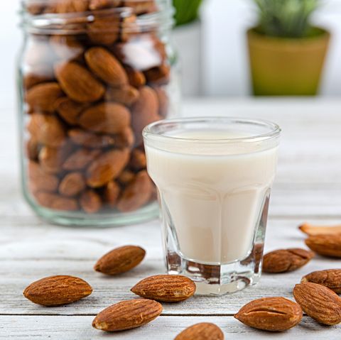
[[[162,313],[162,305],[153,300],[127,300],[102,310],[92,327],[102,331],[124,331],[141,327]]]

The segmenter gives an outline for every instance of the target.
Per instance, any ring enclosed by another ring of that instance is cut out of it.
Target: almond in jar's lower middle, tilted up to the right
[[[122,172],[129,160],[128,150],[111,150],[100,155],[87,169],[87,185],[102,187]]]

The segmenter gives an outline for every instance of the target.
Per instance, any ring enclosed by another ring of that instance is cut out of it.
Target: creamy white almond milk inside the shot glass
[[[235,131],[173,133],[179,138],[244,138]],[[250,135],[249,135],[250,136]],[[167,142],[168,143],[168,142]],[[259,147],[258,147],[259,148]],[[146,146],[148,173],[171,215],[181,254],[207,264],[240,261],[251,251],[254,231],[276,172],[278,147],[241,152],[240,143],[222,153],[207,148]],[[241,154],[242,153],[242,154]]]

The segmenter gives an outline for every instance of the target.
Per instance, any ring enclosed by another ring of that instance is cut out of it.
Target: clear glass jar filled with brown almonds
[[[171,0],[26,0],[22,8],[26,200],[57,224],[156,216],[142,130],[178,104]]]

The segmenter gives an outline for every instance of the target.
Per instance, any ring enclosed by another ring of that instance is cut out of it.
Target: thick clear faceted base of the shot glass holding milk
[[[166,265],[169,274],[185,275],[197,286],[197,295],[224,295],[255,285],[261,278],[263,243],[254,245],[243,261],[222,265],[197,263],[168,253]]]

